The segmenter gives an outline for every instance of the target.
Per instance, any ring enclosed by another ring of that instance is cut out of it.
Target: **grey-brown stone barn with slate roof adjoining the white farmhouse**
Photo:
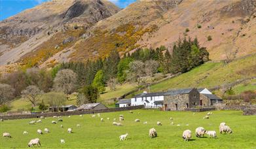
[[[185,110],[200,105],[200,93],[196,88],[169,90],[164,93],[163,110]]]

